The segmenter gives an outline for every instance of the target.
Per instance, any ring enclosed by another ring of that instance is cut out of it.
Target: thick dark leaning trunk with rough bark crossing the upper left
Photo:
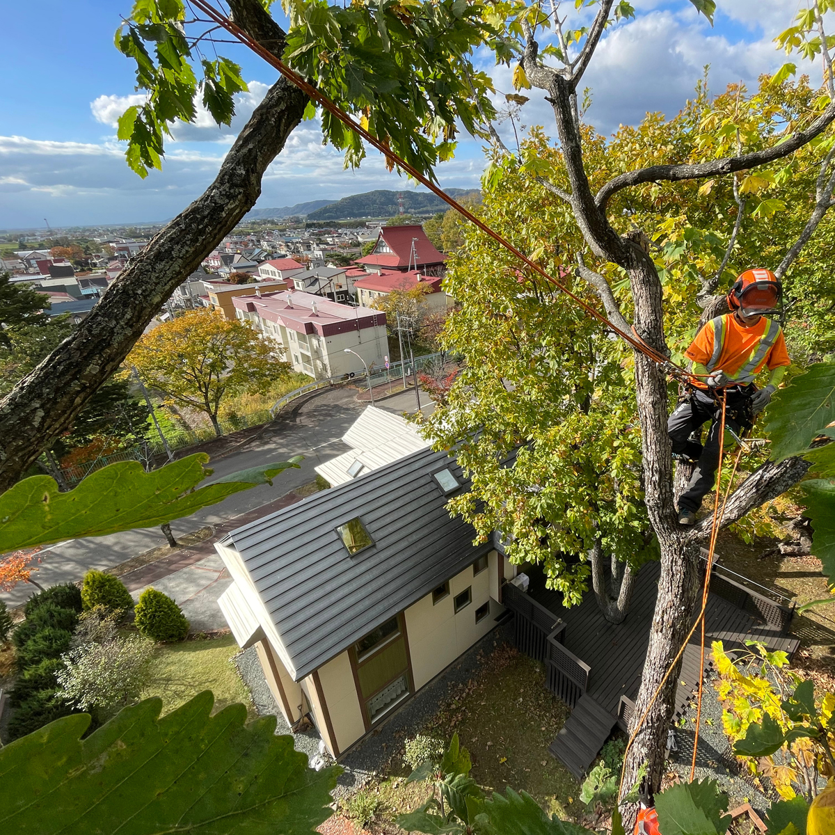
[[[259,0],[230,0],[235,21],[281,56],[285,33]],[[78,329],[0,401],[0,492],[65,430],[119,368],[175,288],[261,195],[261,177],[301,122],[308,99],[280,78],[205,193],[125,268]]]

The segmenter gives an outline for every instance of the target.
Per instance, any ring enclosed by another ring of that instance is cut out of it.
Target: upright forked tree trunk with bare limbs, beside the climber
[[[571,188],[569,195],[559,196],[567,200],[571,206],[574,219],[590,251],[605,261],[619,265],[629,276],[635,305],[634,322],[630,325],[625,321],[610,287],[602,276],[587,269],[582,259],[579,259],[579,275],[595,288],[607,314],[619,327],[624,328],[625,325],[628,330],[634,325],[638,336],[647,345],[663,356],[669,356],[670,352],[665,342],[661,283],[655,264],[648,255],[648,241],[640,231],[623,237],[617,234],[606,217],[606,205],[609,200],[619,190],[632,185],[658,180],[692,180],[731,174],[787,156],[827,129],[835,119],[835,101],[809,128],[796,131],[772,148],[700,164],[654,165],[645,170],[626,172],[611,180],[597,195],[592,195],[584,170],[583,149],[573,104],[579,82],[579,73],[575,70],[579,68],[581,72],[588,65],[602,31],[600,24],[605,23],[611,6],[610,0],[600,3],[595,26],[590,30],[591,33],[596,33],[595,38],[589,38],[576,62],[559,70],[544,67],[539,63],[538,45],[529,25],[523,23],[526,44],[521,63],[529,82],[534,87],[547,91],[546,98],[554,109],[560,149]],[[818,198],[828,198],[830,195],[831,192],[828,195],[819,193]],[[715,289],[714,286],[713,291]],[[717,297],[715,301],[708,301],[706,313],[716,315],[714,311],[721,309],[721,299]],[[702,522],[693,529],[682,527],[677,522],[677,493],[674,491],[671,446],[666,431],[668,392],[665,372],[640,352],[635,352],[635,388],[642,430],[645,504],[650,524],[660,544],[661,570],[650,643],[636,699],[635,721],[645,713],[646,717],[627,757],[625,791],[635,782],[635,776],[643,763],[648,767],[650,786],[654,790],[660,787],[665,742],[675,703],[681,660],[676,663],[655,701],[653,697],[691,627],[696,600],[701,590],[700,547],[710,530],[709,521]],[[729,524],[752,507],[762,504],[767,498],[782,493],[792,483],[796,483],[807,466],[797,459],[764,465],[746,479],[741,488],[731,496],[722,523]],[[681,492],[686,483],[686,468],[680,469],[676,477],[678,492]],[[629,815],[633,810],[624,811]]]

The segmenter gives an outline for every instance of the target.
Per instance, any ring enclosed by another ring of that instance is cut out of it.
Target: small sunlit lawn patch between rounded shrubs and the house
[[[242,702],[250,718],[255,718],[249,691],[230,660],[238,651],[231,635],[161,646],[154,657],[154,679],[142,697],[159,696],[162,712],[168,713],[197,693],[210,690],[215,694],[215,711]]]

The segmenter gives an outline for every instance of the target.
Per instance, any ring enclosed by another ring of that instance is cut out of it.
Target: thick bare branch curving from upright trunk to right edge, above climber
[[[709,162],[685,163],[681,165],[650,165],[637,171],[627,171],[610,180],[595,197],[595,203],[600,211],[606,210],[606,205],[611,197],[620,190],[628,189],[632,185],[652,183],[657,180],[668,180],[677,182],[679,180],[700,180],[704,177],[716,177],[724,174],[732,174],[734,171],[741,171],[748,168],[756,168],[773,162],[775,159],[793,154],[798,148],[802,148],[810,140],[832,124],[835,119],[835,101],[830,102],[827,109],[812,122],[806,130],[797,130],[785,141],[775,145],[773,148],[761,151],[752,151],[750,154],[741,154],[736,157],[725,157],[724,159],[711,159]]]

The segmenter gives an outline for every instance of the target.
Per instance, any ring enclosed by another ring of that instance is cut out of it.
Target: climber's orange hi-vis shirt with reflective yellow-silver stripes
[[[766,366],[773,370],[792,364],[782,327],[776,321],[761,316],[756,325],[743,327],[732,313],[711,319],[696,334],[685,357],[703,365],[709,372],[721,370],[740,383],[754,382]],[[696,385],[707,387],[702,382]]]

